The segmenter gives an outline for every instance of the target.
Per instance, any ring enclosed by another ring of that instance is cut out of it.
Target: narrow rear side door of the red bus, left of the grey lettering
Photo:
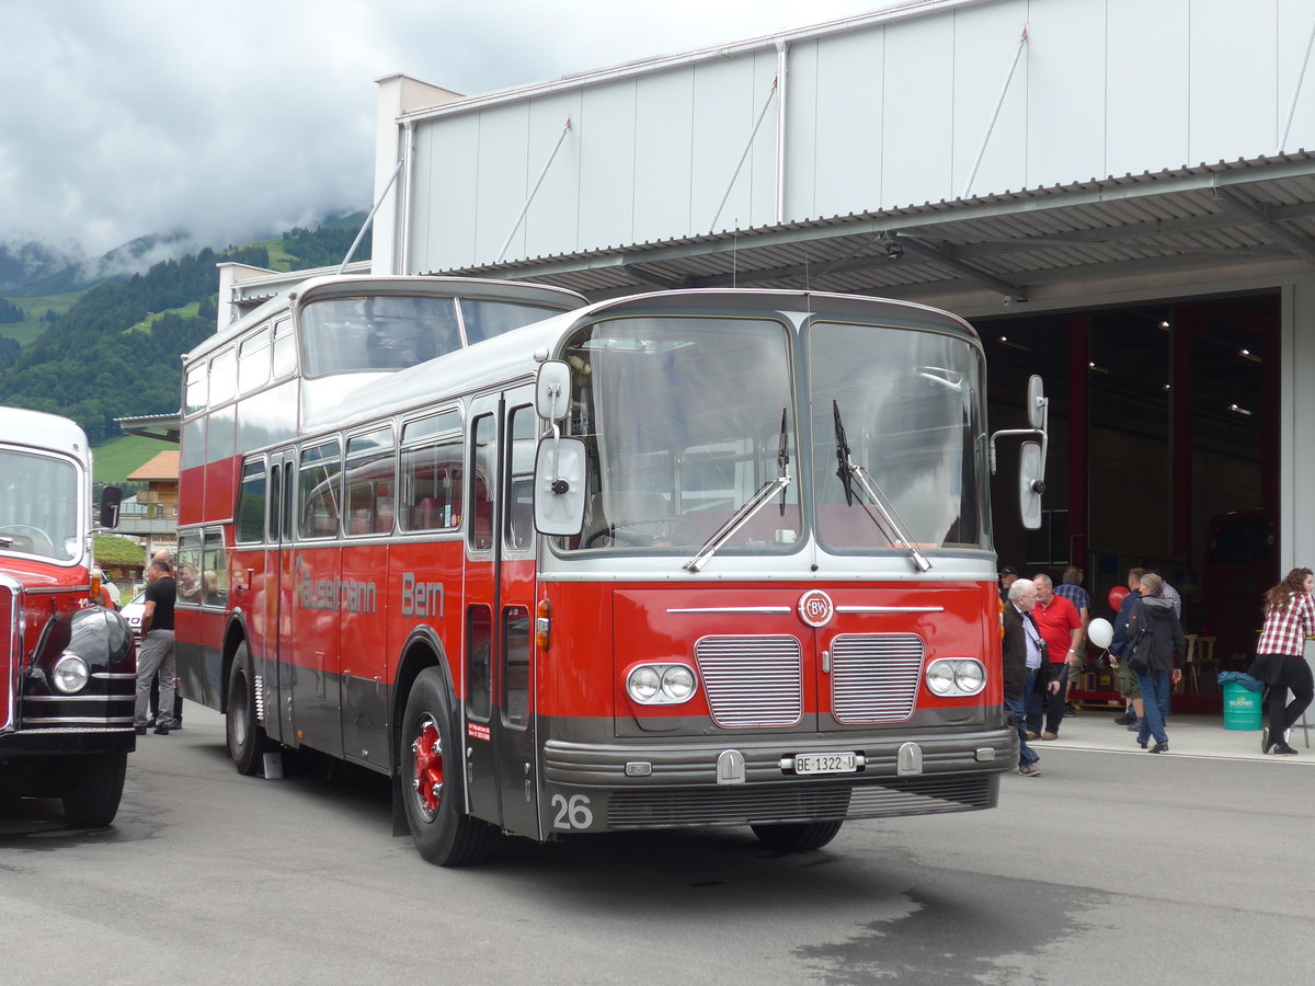
[[[279,642],[291,636],[292,593],[292,488],[296,471],[292,452],[270,456],[268,547],[264,552],[264,731],[270,739],[292,744],[291,655]],[[287,597],[287,598],[285,598]]]

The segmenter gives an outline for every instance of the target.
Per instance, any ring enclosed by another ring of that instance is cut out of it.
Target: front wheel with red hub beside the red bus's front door
[[[479,862],[494,835],[488,824],[466,814],[459,741],[443,674],[426,668],[406,697],[397,763],[412,840],[419,855],[438,866]]]

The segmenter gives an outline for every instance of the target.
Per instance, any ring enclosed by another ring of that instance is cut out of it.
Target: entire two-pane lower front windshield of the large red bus
[[[815,323],[806,339],[813,390],[801,405],[792,334],[775,319],[623,318],[581,329],[564,355],[569,433],[585,440],[590,485],[581,535],[558,547],[788,552],[805,535],[805,460],[828,550],[986,547],[978,351],[949,335],[869,325]],[[798,413],[811,425],[802,458]],[[838,476],[840,419],[848,482]]]

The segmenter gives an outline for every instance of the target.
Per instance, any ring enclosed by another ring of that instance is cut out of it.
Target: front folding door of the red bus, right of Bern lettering
[[[464,713],[472,814],[538,837],[531,401],[525,387],[471,408]]]

